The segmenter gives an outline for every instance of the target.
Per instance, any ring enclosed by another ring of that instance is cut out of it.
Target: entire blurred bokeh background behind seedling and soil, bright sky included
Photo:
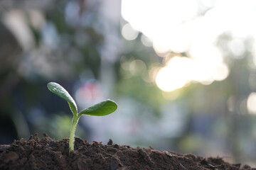
[[[256,1],[0,1],[0,144],[76,135],[256,166]]]

